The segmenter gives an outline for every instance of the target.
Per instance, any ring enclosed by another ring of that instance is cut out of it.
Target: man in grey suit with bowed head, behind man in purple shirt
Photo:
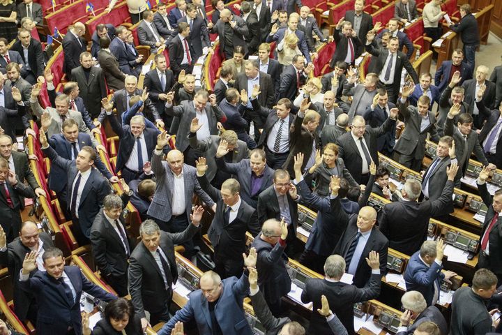
[[[238,140],[235,131],[225,131],[220,136],[211,135],[202,140],[197,139],[197,131],[199,130],[199,119],[192,119],[190,124],[190,134],[188,135],[188,144],[193,149],[199,150],[206,157],[208,170],[206,178],[215,188],[220,189],[223,181],[230,178],[231,174],[223,172],[216,166],[215,156],[221,140],[227,141],[227,148],[231,151],[230,157],[225,156],[225,160],[229,163],[238,163],[245,158],[249,158],[248,144]]]

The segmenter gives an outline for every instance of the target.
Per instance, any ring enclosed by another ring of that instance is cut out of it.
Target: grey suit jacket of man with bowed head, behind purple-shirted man
[[[193,149],[197,149],[204,153],[206,157],[206,163],[208,165],[208,170],[206,171],[206,177],[208,181],[212,181],[218,171],[216,167],[216,151],[218,150],[218,145],[220,145],[220,136],[211,135],[204,140],[197,140],[195,133],[190,133],[188,135],[188,144]],[[237,140],[237,147],[233,150],[234,156],[232,156],[232,163],[238,163],[245,158],[249,158],[248,145],[241,140]]]

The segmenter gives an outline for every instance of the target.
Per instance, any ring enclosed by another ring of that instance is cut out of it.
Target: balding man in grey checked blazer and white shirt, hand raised
[[[194,193],[209,207],[215,209],[216,205],[206,192],[202,191],[197,181],[197,170],[183,163],[181,151],[169,151],[167,162],[162,162],[162,149],[169,145],[169,138],[165,131],[158,135],[157,146],[153,151],[151,168],[157,177],[157,186],[148,215],[155,219],[160,229],[174,233],[183,232],[188,227]],[[193,242],[186,241],[183,246],[185,257],[190,259],[194,252]]]

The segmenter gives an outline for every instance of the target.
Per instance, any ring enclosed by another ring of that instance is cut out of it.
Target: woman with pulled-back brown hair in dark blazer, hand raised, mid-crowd
[[[330,194],[330,177],[338,176],[347,179],[349,186],[358,187],[356,180],[353,179],[349,170],[345,168],[342,158],[338,158],[338,146],[335,143],[328,143],[323,148],[323,154],[318,152],[316,160],[312,168],[305,172],[303,178],[308,186],[312,186],[314,181],[314,193],[321,197],[326,197]]]

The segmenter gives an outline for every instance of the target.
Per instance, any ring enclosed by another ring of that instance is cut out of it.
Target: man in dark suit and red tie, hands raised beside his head
[[[335,68],[337,61],[344,61],[346,64],[353,65],[356,58],[363,51],[362,43],[360,42],[356,31],[352,29],[352,24],[349,21],[344,21],[344,17],[340,19],[333,32],[336,49],[331,57],[330,68]]]

